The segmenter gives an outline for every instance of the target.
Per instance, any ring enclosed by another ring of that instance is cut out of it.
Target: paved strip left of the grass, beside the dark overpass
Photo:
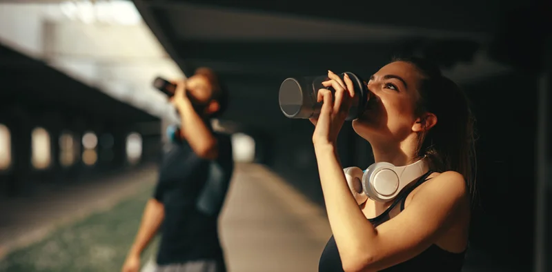
[[[2,200],[0,261],[6,253],[41,240],[61,225],[109,211],[124,198],[153,184],[155,177],[157,167],[150,164],[131,173],[68,185],[32,198]]]

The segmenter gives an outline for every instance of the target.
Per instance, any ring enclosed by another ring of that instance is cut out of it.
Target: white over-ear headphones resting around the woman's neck
[[[397,197],[404,187],[428,171],[424,159],[407,166],[394,166],[388,162],[376,162],[366,171],[358,167],[343,169],[351,193],[362,204],[370,197],[378,202],[388,202]]]

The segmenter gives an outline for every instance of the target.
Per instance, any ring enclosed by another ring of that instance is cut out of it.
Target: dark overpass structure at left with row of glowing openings
[[[99,177],[160,154],[158,117],[1,45],[0,86],[2,197]]]

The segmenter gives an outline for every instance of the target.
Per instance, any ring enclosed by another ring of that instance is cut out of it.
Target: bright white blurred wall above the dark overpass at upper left
[[[132,1],[0,3],[0,43],[161,118],[156,76],[184,77]]]

